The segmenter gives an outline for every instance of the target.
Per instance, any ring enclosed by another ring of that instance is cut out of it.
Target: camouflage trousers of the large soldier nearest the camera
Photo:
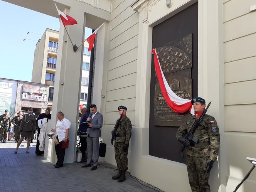
[[[206,172],[208,158],[187,155],[187,172],[192,192],[210,192],[210,185],[208,184],[210,173]]]

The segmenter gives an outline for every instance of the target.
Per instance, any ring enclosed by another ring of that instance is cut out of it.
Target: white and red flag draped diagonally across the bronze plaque
[[[194,115],[195,112],[191,100],[180,98],[175,93],[173,93],[172,89],[168,85],[163,74],[160,62],[158,60],[156,49],[152,50],[152,54],[154,54],[155,71],[157,73],[157,79],[160,84],[160,89],[162,91],[163,98],[165,98],[165,101],[168,104],[168,106],[175,113],[186,113],[187,111],[190,111],[190,113]]]

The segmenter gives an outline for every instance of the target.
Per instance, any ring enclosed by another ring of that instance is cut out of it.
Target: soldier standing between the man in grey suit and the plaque
[[[118,107],[120,118],[116,121],[114,130],[115,133],[115,158],[118,168],[118,174],[112,179],[118,179],[118,182],[125,180],[125,172],[128,170],[128,148],[131,138],[131,121],[126,116],[127,108],[125,106]]]

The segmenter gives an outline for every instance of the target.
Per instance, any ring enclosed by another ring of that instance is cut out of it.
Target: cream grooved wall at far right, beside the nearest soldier
[[[256,12],[249,12],[254,4],[254,0],[223,1],[227,191],[233,191],[251,168],[246,157],[256,158]],[[240,188],[241,192],[255,191],[256,173]]]

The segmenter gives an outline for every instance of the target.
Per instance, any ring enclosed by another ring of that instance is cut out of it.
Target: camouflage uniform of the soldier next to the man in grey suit
[[[118,119],[119,120],[119,119]],[[127,116],[124,116],[120,119],[120,124],[118,127],[118,120],[116,121],[116,125],[114,127],[114,130],[117,129],[118,136],[115,139],[115,158],[116,158],[116,164],[117,168],[119,170],[125,171],[127,170],[128,165],[128,149],[126,152],[123,151],[123,145],[129,145],[129,141],[131,138],[131,121]]]

